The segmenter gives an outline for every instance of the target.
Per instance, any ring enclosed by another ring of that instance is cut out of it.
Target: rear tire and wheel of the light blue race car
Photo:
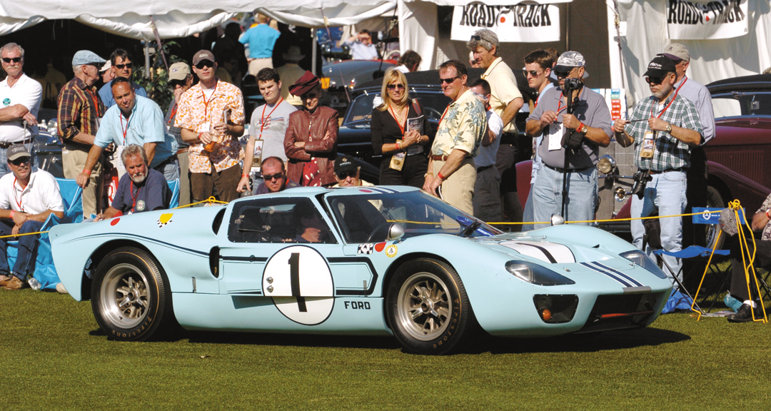
[[[91,308],[111,339],[146,341],[175,328],[171,288],[146,251],[123,247],[107,254],[91,285]]]

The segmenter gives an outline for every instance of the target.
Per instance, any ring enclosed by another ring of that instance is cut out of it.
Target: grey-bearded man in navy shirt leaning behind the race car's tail
[[[147,157],[142,147],[131,144],[120,156],[126,173],[120,178],[113,205],[96,216],[96,221],[124,214],[169,208],[171,190],[163,175],[147,167]]]

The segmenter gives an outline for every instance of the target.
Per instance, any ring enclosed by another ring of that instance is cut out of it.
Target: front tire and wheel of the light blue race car
[[[431,258],[399,267],[389,283],[385,307],[396,339],[414,354],[443,355],[461,349],[476,324],[456,271]]]

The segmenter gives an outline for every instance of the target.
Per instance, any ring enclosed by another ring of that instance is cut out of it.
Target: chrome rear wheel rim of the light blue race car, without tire
[[[150,292],[144,273],[133,264],[117,264],[107,271],[99,295],[104,318],[120,328],[140,325],[150,307]]]

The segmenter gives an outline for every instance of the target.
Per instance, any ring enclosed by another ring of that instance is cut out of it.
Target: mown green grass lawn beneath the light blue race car
[[[90,302],[0,290],[0,409],[766,409],[771,325],[485,339],[407,355],[392,338],[188,332],[114,342]]]

